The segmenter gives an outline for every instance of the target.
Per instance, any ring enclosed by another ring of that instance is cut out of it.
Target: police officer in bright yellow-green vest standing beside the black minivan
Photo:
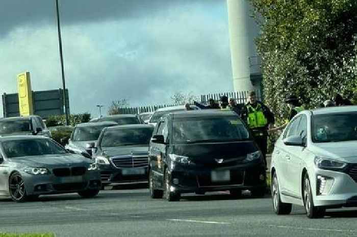
[[[261,149],[266,164],[268,128],[275,122],[274,115],[265,104],[257,100],[256,93],[251,92],[249,94],[249,102],[242,111],[242,118],[252,130],[254,140],[256,140]]]

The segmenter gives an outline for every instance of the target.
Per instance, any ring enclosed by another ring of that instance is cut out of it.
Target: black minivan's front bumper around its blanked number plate
[[[230,171],[230,180],[213,181],[216,171]],[[171,190],[177,193],[226,190],[260,190],[266,188],[266,171],[262,163],[219,169],[175,168],[170,172]]]

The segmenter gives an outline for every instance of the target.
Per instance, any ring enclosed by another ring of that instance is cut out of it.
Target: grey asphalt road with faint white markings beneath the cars
[[[342,211],[342,212],[341,212]],[[147,189],[110,190],[96,198],[76,194],[39,201],[0,201],[0,232],[54,232],[57,236],[356,236],[356,209],[309,220],[301,207],[276,216],[271,200],[226,193],[153,200]]]

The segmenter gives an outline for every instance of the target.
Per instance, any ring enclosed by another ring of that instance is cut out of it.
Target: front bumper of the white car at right
[[[333,184],[329,188],[326,195],[318,195],[320,185],[318,176],[328,177],[333,179]],[[314,192],[314,204],[315,206],[357,206],[357,180],[347,173],[328,171],[328,170],[316,170],[315,192]]]

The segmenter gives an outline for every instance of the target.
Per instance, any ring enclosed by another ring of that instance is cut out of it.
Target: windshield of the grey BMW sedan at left
[[[67,151],[49,139],[22,139],[2,142],[7,157],[65,154]]]

